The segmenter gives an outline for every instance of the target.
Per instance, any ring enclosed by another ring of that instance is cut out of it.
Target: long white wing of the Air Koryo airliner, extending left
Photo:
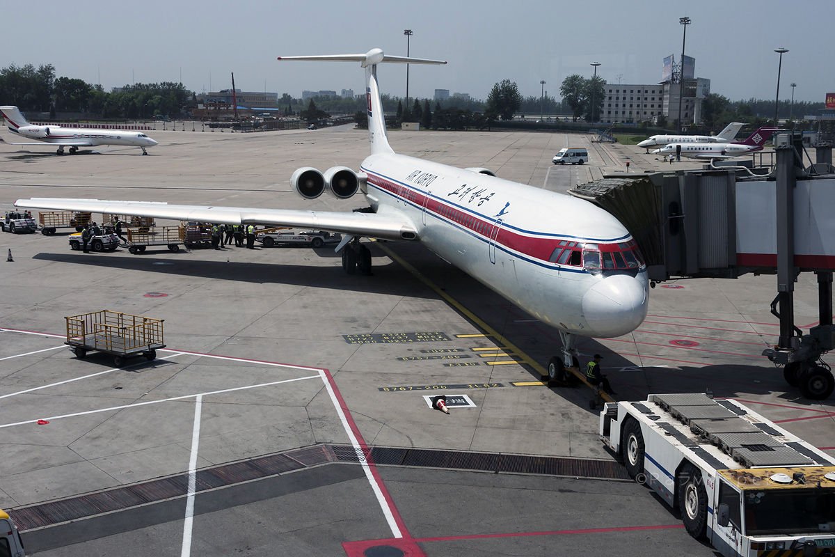
[[[17,200],[28,209],[76,210],[89,213],[152,216],[157,219],[193,220],[233,225],[276,225],[326,230],[381,240],[415,240],[417,226],[396,209],[384,212],[337,212],[291,209],[261,209],[200,205],[169,205],[154,201],[109,201],[60,198]]]

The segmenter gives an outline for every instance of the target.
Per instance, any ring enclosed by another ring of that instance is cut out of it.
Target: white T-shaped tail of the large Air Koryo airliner
[[[368,110],[368,140],[371,153],[393,153],[386,134],[386,116],[382,113],[382,99],[377,85],[378,63],[446,63],[443,60],[389,56],[380,48],[372,48],[364,54],[332,54],[324,56],[279,56],[279,60],[308,60],[316,62],[359,62],[366,68],[366,103]]]

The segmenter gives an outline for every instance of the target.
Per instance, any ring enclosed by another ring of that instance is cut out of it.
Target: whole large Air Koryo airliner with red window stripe
[[[589,201],[503,180],[486,169],[459,169],[392,150],[377,65],[445,62],[389,56],[379,48],[279,60],[352,61],[366,68],[371,154],[359,171],[345,166],[324,173],[300,168],[291,185],[306,199],[326,191],[347,199],[360,191],[367,209],[348,213],[43,198],[15,205],[340,232],[337,251],[342,251],[348,273],[371,269],[371,252],[359,242],[362,236],[420,241],[559,331],[563,351],[549,362],[552,377],[564,364],[572,365],[576,335],[618,337],[643,322],[648,304],[645,262],[630,232],[614,216]]]

